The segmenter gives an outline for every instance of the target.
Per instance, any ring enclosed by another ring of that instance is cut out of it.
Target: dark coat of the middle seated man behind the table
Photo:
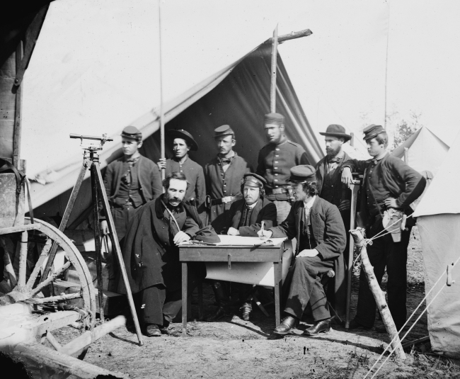
[[[245,206],[246,201],[244,199],[236,200],[233,204],[231,204],[229,213],[227,215],[226,230],[223,232],[229,230],[229,227],[234,227],[235,229],[238,229],[241,236],[243,237],[258,237],[257,232],[260,230],[262,221],[264,222],[264,229],[268,229],[277,225],[276,205],[268,200],[268,198],[262,198],[259,199],[255,204],[249,219],[249,226],[238,227],[241,216],[244,213]]]

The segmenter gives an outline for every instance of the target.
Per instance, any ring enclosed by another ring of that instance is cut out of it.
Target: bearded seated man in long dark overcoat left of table
[[[178,245],[190,239],[220,242],[212,227],[202,228],[197,209],[183,202],[188,188],[184,174],[169,174],[163,187],[166,193],[146,203],[132,218],[122,250],[147,336],[160,336],[182,307]],[[189,264],[190,293],[204,277],[203,264]],[[123,281],[118,292],[126,293]]]

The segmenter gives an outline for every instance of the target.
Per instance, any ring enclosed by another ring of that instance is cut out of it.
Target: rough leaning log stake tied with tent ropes
[[[362,227],[358,227],[355,230],[350,230],[350,233],[355,240],[355,244],[361,249],[361,261],[364,273],[366,274],[367,283],[369,283],[369,288],[372,291],[372,295],[374,295],[386,332],[388,332],[391,341],[393,341],[391,347],[398,358],[406,359],[406,354],[404,353],[403,347],[401,346],[401,340],[399,339],[398,329],[396,329],[393,317],[391,317],[391,312],[386,304],[385,295],[374,275],[374,268],[372,267],[371,261],[369,261],[369,256],[367,255],[366,244],[364,243],[364,229]]]

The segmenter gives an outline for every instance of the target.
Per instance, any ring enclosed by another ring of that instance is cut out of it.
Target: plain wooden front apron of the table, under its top
[[[180,261],[200,261],[200,262],[227,262],[229,254],[232,262],[280,262],[282,261],[282,249],[259,248],[251,251],[247,249],[200,249],[180,247]]]

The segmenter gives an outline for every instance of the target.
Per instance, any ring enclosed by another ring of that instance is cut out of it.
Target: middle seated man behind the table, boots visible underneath
[[[241,183],[243,199],[236,200],[231,204],[226,215],[225,229],[221,232],[234,236],[257,237],[262,222],[265,227],[276,226],[276,205],[265,198],[265,179],[257,174],[246,173]],[[249,320],[253,310],[250,298],[253,285],[245,283],[233,283],[237,288],[238,298],[241,303],[241,318]],[[215,315],[207,317],[206,321],[217,321],[230,312],[229,283],[214,281],[212,289],[218,304]]]

